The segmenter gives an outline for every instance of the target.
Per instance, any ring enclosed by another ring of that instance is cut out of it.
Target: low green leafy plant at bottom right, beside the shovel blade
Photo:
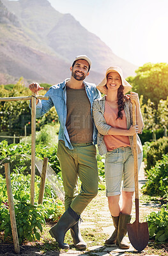
[[[159,212],[151,212],[147,219],[149,237],[159,242],[168,241],[168,211],[164,207]]]

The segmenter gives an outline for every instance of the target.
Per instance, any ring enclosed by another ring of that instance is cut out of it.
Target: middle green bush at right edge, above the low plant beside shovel
[[[151,196],[167,196],[168,191],[168,155],[158,160],[155,166],[146,170],[147,180],[142,191]]]

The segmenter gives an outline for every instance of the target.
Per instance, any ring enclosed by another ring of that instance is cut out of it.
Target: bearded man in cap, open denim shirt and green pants
[[[80,214],[98,193],[97,131],[92,118],[92,105],[95,99],[100,98],[100,92],[95,84],[84,82],[90,67],[88,56],[77,56],[70,67],[70,79],[51,86],[45,94],[49,100],[39,100],[36,105],[36,117],[44,115],[52,106],[55,106],[59,117],[57,156],[65,189],[65,213],[49,232],[59,247],[65,249],[69,248],[64,243],[68,229],[75,247],[86,248],[79,229]],[[43,90],[38,83],[30,84],[29,89],[36,93]],[[81,181],[80,193],[78,177]]]

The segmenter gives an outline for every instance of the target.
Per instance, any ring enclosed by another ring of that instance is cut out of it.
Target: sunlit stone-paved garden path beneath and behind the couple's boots
[[[144,204],[141,200],[141,187],[145,183],[145,177],[144,177],[144,163],[141,165],[141,170],[139,172],[139,221],[146,221],[146,216],[151,211],[158,211],[160,209],[160,205],[157,204]],[[121,200],[120,200],[121,204]],[[82,214],[82,220],[83,222],[80,225],[81,231],[84,232],[84,230],[90,230],[91,234],[93,234],[93,237],[95,236],[95,233],[100,233],[99,241],[96,242],[97,245],[92,245],[93,240],[87,241],[88,244],[88,252],[77,252],[75,249],[68,250],[68,252],[61,252],[60,256],[74,256],[74,255],[81,255],[84,254],[86,256],[94,255],[94,256],[128,256],[128,255],[166,255],[166,254],[153,254],[146,253],[144,250],[141,253],[138,253],[130,244],[130,248],[128,250],[121,250],[118,248],[118,246],[104,246],[104,241],[109,236],[111,236],[112,232],[114,231],[114,226],[112,225],[112,218],[111,214],[109,213],[108,204],[107,204],[107,197],[105,196],[105,191],[99,191],[98,196],[91,202],[91,204],[88,205],[86,211]],[[135,220],[135,204],[132,209],[132,221],[133,223]],[[94,230],[94,231],[93,231]],[[87,234],[86,234],[87,236]],[[126,239],[128,243],[130,243],[128,236],[126,236]]]

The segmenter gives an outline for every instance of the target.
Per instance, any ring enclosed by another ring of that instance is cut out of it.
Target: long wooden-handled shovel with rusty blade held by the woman
[[[133,102],[133,125],[136,124],[135,102]],[[134,179],[135,179],[135,221],[127,224],[128,237],[134,248],[141,252],[149,241],[148,222],[139,223],[139,184],[137,163],[137,134],[134,134]]]

